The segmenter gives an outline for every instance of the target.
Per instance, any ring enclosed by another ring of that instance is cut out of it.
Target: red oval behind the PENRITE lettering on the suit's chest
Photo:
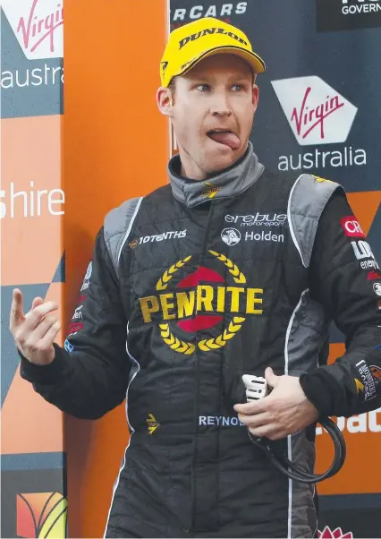
[[[199,270],[194,271],[186,278],[183,278],[177,287],[198,287],[199,283],[202,282],[224,283],[225,281],[216,271],[200,266]],[[178,321],[177,325],[185,331],[199,331],[200,329],[213,328],[222,320],[222,316],[197,314],[195,318],[190,320]]]

